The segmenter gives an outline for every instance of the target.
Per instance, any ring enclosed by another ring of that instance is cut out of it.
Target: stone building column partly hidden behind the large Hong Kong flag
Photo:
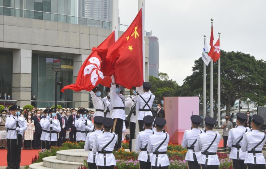
[[[88,55],[74,55],[73,61],[73,84],[76,83],[76,79],[79,73],[79,69]],[[89,108],[89,92],[82,90],[80,92],[73,91],[73,101],[75,101],[75,108],[84,107]]]

